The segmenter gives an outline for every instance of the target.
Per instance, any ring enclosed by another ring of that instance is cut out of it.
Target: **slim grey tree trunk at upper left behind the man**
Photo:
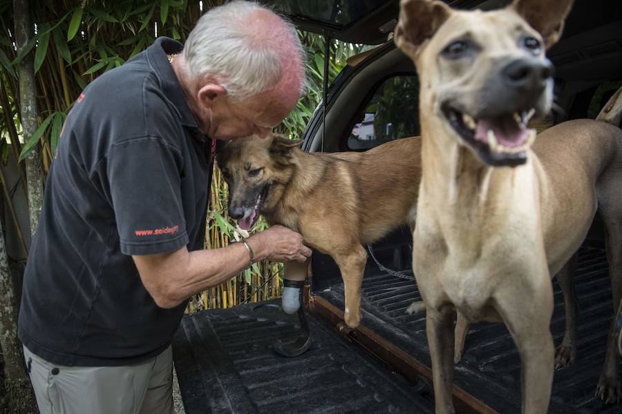
[[[34,31],[30,24],[28,0],[13,1],[13,18],[15,20],[15,40],[17,54],[32,39]],[[37,130],[37,95],[35,91],[35,67],[33,64],[32,48],[30,53],[17,65],[19,78],[19,111],[21,113],[21,128],[23,138],[28,138]],[[35,229],[39,223],[39,214],[43,204],[43,170],[41,169],[41,147],[36,144],[26,158],[26,179],[28,180],[28,207],[30,207],[30,235],[35,236]]]

